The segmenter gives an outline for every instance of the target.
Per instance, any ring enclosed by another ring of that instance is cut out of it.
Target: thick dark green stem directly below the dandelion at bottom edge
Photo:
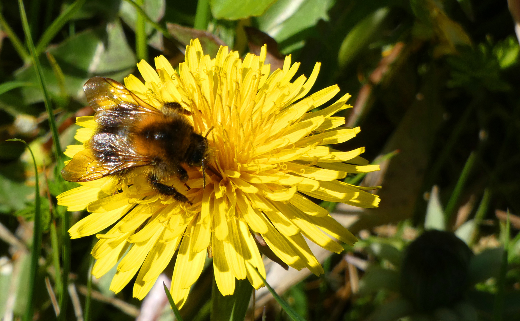
[[[253,287],[248,279],[235,280],[235,292],[223,296],[213,280],[211,321],[243,321]]]

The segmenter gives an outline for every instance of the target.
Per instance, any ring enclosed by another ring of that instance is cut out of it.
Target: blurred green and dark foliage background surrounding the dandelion
[[[82,90],[88,78],[121,82],[130,73],[139,76],[138,60],[153,62],[159,55],[175,67],[196,37],[212,57],[220,45],[243,56],[266,43],[271,71],[284,55],[302,63],[298,75],[308,76],[319,61],[314,90],[338,84],[339,95],[353,96],[353,109],[338,116],[361,132],[333,147],[366,146],[364,157],[382,170],[348,179],[381,185],[382,201],[380,208],[362,211],[324,202],[360,242],[345,246],[342,255],[320,252],[321,277],[302,272],[284,282],[271,278],[305,319],[520,319],[520,2],[26,0],[24,7],[63,149],[75,141],[75,117],[93,114]],[[72,212],[68,222],[56,205],[55,196],[73,184],[64,186],[56,175],[44,94],[26,40],[18,3],[3,0],[0,317],[19,319],[32,291],[36,181],[28,150],[5,142],[18,138],[35,154],[40,184],[35,319],[56,318],[56,295],[69,303],[62,319],[80,320],[88,311],[89,320],[173,320],[160,291],[149,295],[160,299],[145,299],[141,307],[132,298],[133,282],[117,295],[108,289],[115,271],[91,283],[95,237],[71,242],[64,233],[86,212]],[[70,282],[63,293],[60,271],[68,270],[68,260],[61,255],[69,252]],[[169,266],[166,277],[171,272]],[[184,319],[223,319],[211,313],[211,287],[210,264],[180,311]],[[246,319],[290,319],[261,294]],[[87,311],[86,297],[92,297]]]

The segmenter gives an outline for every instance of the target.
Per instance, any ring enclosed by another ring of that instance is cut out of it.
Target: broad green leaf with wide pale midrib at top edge
[[[256,18],[258,29],[280,43],[316,25],[320,19],[328,21],[327,11],[333,4],[334,0],[278,0]]]

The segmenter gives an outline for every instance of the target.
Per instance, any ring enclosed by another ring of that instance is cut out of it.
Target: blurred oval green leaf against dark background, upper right
[[[380,29],[388,12],[390,12],[390,9],[387,7],[375,10],[348,32],[341,43],[340,51],[337,53],[340,68],[345,68],[363,48],[368,46],[373,36]]]

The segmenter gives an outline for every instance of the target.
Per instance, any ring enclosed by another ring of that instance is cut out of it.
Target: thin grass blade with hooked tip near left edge
[[[8,139],[7,141],[17,141],[22,142],[27,146],[29,152],[31,153],[31,157],[33,159],[34,164],[34,179],[35,179],[35,199],[34,199],[34,231],[33,231],[33,243],[31,248],[31,270],[29,274],[29,291],[28,291],[28,300],[27,300],[27,309],[25,310],[24,320],[31,321],[34,310],[34,285],[36,284],[36,274],[38,273],[38,260],[41,255],[42,248],[42,215],[40,209],[40,182],[38,181],[38,167],[36,166],[36,159],[34,158],[34,154],[25,141],[21,139]]]

